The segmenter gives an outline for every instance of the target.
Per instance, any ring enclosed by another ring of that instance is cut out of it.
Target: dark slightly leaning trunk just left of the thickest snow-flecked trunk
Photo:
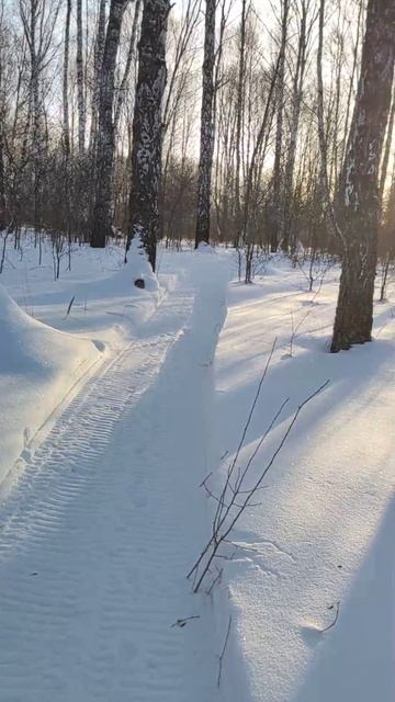
[[[104,248],[112,226],[112,171],[115,149],[113,122],[116,55],[122,18],[128,0],[111,0],[100,79],[99,123],[95,156],[95,193],[91,246]]]

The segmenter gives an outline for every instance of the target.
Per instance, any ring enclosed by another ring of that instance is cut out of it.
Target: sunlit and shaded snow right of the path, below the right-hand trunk
[[[395,319],[390,304],[376,304],[374,342],[326,353],[336,271],[316,296],[302,287],[300,274],[281,262],[269,265],[256,285],[233,284],[217,351],[217,461],[228,451],[217,491],[275,337],[241,465],[290,397],[255,462],[259,475],[297,404],[330,381],[303,410],[264,480],[261,506],[247,510],[233,535],[239,548],[226,566],[223,599],[230,602],[234,639],[223,699],[390,702],[395,693]],[[291,313],[295,325],[303,320],[292,356]],[[323,632],[338,602],[337,623]]]

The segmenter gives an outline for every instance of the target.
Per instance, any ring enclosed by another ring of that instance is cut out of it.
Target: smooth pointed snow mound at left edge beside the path
[[[94,361],[98,344],[33,319],[0,285],[0,484]]]

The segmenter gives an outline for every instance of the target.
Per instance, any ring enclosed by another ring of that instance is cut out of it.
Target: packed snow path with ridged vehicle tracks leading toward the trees
[[[188,285],[25,455],[1,506],[3,702],[212,699],[211,613],[184,575],[204,531],[227,267],[192,259]]]

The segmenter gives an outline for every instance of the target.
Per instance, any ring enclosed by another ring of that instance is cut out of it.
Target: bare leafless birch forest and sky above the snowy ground
[[[224,244],[247,283],[262,252],[335,257],[363,316],[394,256],[393,5],[2,0],[2,240],[31,228],[40,256],[43,237],[138,233],[154,268],[159,239]],[[346,339],[338,308],[334,350],[369,339],[366,314]]]

